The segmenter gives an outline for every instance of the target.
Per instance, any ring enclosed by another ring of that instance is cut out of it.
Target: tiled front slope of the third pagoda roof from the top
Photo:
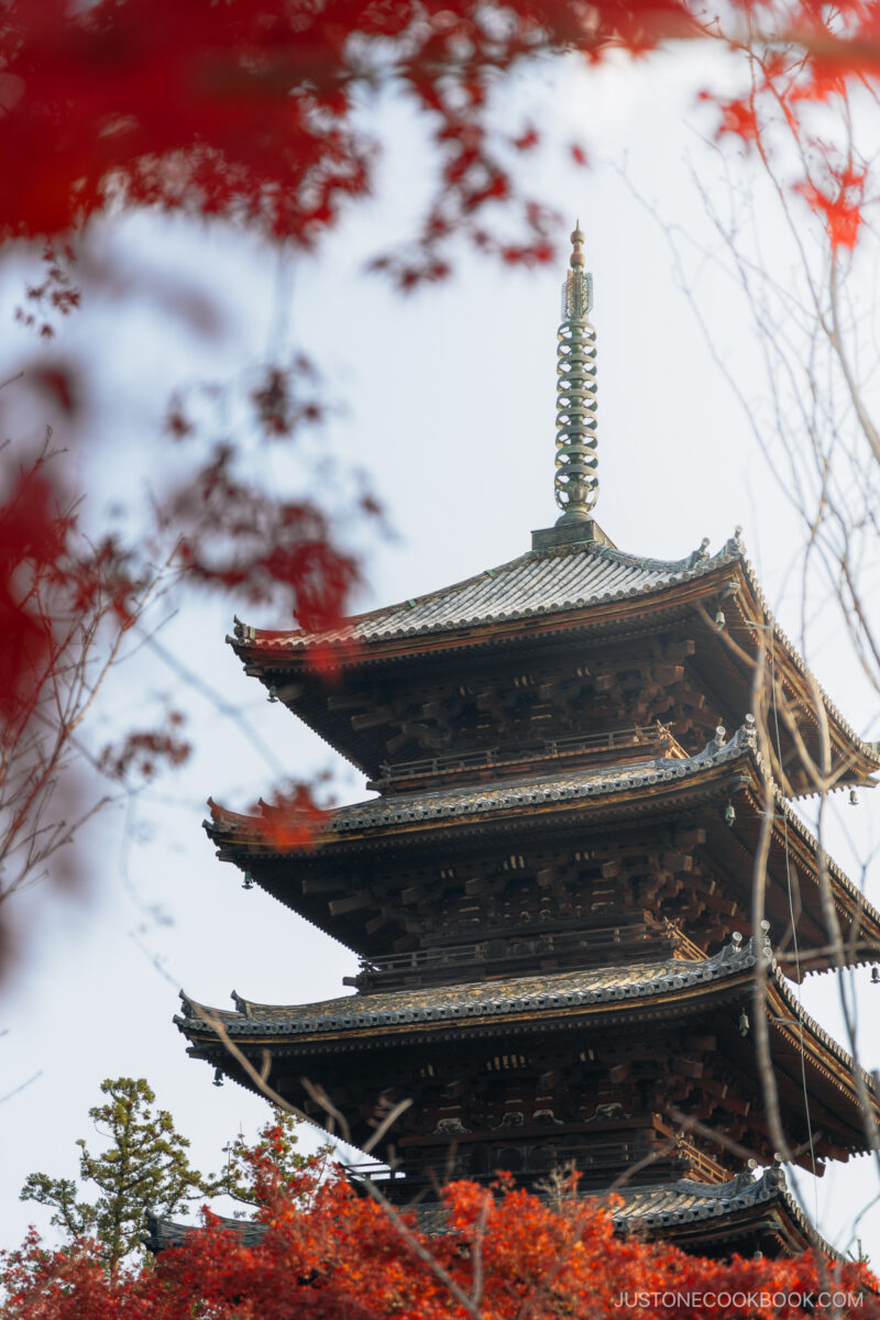
[[[224,1028],[239,1035],[288,1035],[311,1031],[346,1031],[359,1027],[462,1020],[555,1008],[570,1005],[611,1003],[640,999],[693,985],[719,981],[755,966],[752,941],[727,945],[711,958],[666,958],[631,966],[590,968],[541,977],[512,977],[464,985],[413,986],[375,994],[343,995],[319,1003],[263,1005],[235,997],[239,1011],[220,1011]],[[190,1016],[175,1019],[194,1026],[199,1006],[185,999]]]

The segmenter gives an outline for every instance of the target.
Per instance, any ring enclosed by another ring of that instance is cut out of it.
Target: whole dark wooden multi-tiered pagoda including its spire
[[[322,813],[306,847],[284,846],[278,807],[211,803],[206,822],[245,887],[359,954],[350,993],[234,993],[234,1010],[183,995],[175,1020],[218,1080],[253,1088],[251,1061],[354,1146],[381,1130],[373,1155],[398,1201],[499,1170],[540,1191],[574,1167],[582,1192],[621,1192],[620,1232],[790,1254],[810,1233],[785,1189],[759,1026],[788,1160],[822,1173],[864,1152],[880,1117],[872,1076],[797,995],[806,973],[876,957],[880,913],[790,804],[817,791],[818,766],[826,784],[869,784],[880,748],[778,628],[739,531],[666,561],[619,550],[595,521],[582,246],[577,228],[555,525],[508,564],[336,630],[236,623],[228,639],[368,779],[373,796]],[[339,663],[332,688],[317,644]]]

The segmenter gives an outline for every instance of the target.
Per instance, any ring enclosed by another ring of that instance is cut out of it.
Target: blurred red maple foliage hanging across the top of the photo
[[[377,263],[402,288],[442,279],[456,235],[507,261],[546,260],[550,216],[505,158],[541,135],[511,137],[489,116],[499,77],[524,62],[640,54],[669,36],[720,40],[749,63],[751,95],[720,102],[722,131],[747,140],[756,102],[792,114],[880,62],[863,0],[739,0],[720,21],[687,0],[9,0],[1,30],[0,174],[16,186],[0,236],[65,242],[112,207],[158,206],[310,248],[348,201],[368,195],[381,143],[358,110],[393,82],[439,149],[413,247]],[[497,203],[516,214],[519,239],[487,242]],[[46,297],[65,312],[61,273]]]

